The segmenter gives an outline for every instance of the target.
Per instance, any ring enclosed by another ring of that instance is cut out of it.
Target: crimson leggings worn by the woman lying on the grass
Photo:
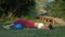
[[[29,22],[29,21],[25,21],[25,20],[17,20],[16,22],[14,22],[14,24],[16,24],[16,23],[21,23],[28,28],[35,27],[35,22]]]

